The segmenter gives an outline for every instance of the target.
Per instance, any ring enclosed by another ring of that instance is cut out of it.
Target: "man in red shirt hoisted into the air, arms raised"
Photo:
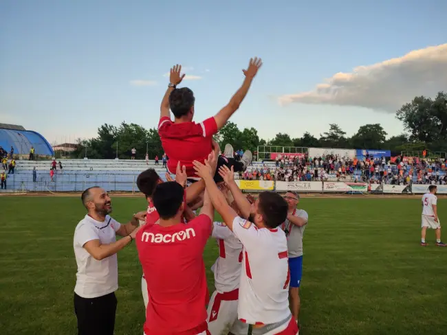
[[[169,157],[169,172],[173,173],[180,161],[182,165],[186,165],[188,177],[197,177],[193,169],[193,161],[203,163],[211,150],[215,150],[217,156],[219,148],[217,143],[212,142],[212,135],[215,135],[226,124],[231,115],[239,109],[261,65],[261,58],[250,59],[248,69],[243,70],[245,79],[241,88],[219,113],[199,124],[193,122],[195,103],[193,91],[187,87],[176,88],[185,76],[184,74],[180,75],[182,67],[175,65],[171,69],[170,83],[160,106],[160,122],[158,124],[162,146]],[[171,120],[169,108],[173,112],[174,122]],[[246,153],[246,157],[242,159],[244,169],[252,159],[251,152],[247,151]],[[224,164],[224,162],[222,161],[220,164]]]

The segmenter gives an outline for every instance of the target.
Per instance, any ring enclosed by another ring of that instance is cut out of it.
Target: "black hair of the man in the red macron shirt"
[[[173,218],[183,203],[184,189],[175,181],[158,184],[153,192],[153,205],[160,218],[168,220]]]

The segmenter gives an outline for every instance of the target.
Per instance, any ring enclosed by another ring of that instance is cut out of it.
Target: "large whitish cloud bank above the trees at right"
[[[361,106],[395,113],[416,95],[433,97],[438,91],[447,91],[447,44],[336,73],[313,91],[281,95],[279,103]]]

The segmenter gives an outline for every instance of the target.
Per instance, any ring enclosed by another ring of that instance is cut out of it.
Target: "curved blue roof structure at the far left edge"
[[[12,146],[14,154],[29,154],[33,146],[35,154],[54,156],[53,148],[45,137],[21,126],[0,124],[0,146],[7,152]]]

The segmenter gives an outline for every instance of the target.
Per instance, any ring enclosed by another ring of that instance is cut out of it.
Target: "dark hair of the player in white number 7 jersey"
[[[259,194],[259,212],[265,226],[270,229],[278,227],[287,218],[288,205],[284,198],[271,191]]]

